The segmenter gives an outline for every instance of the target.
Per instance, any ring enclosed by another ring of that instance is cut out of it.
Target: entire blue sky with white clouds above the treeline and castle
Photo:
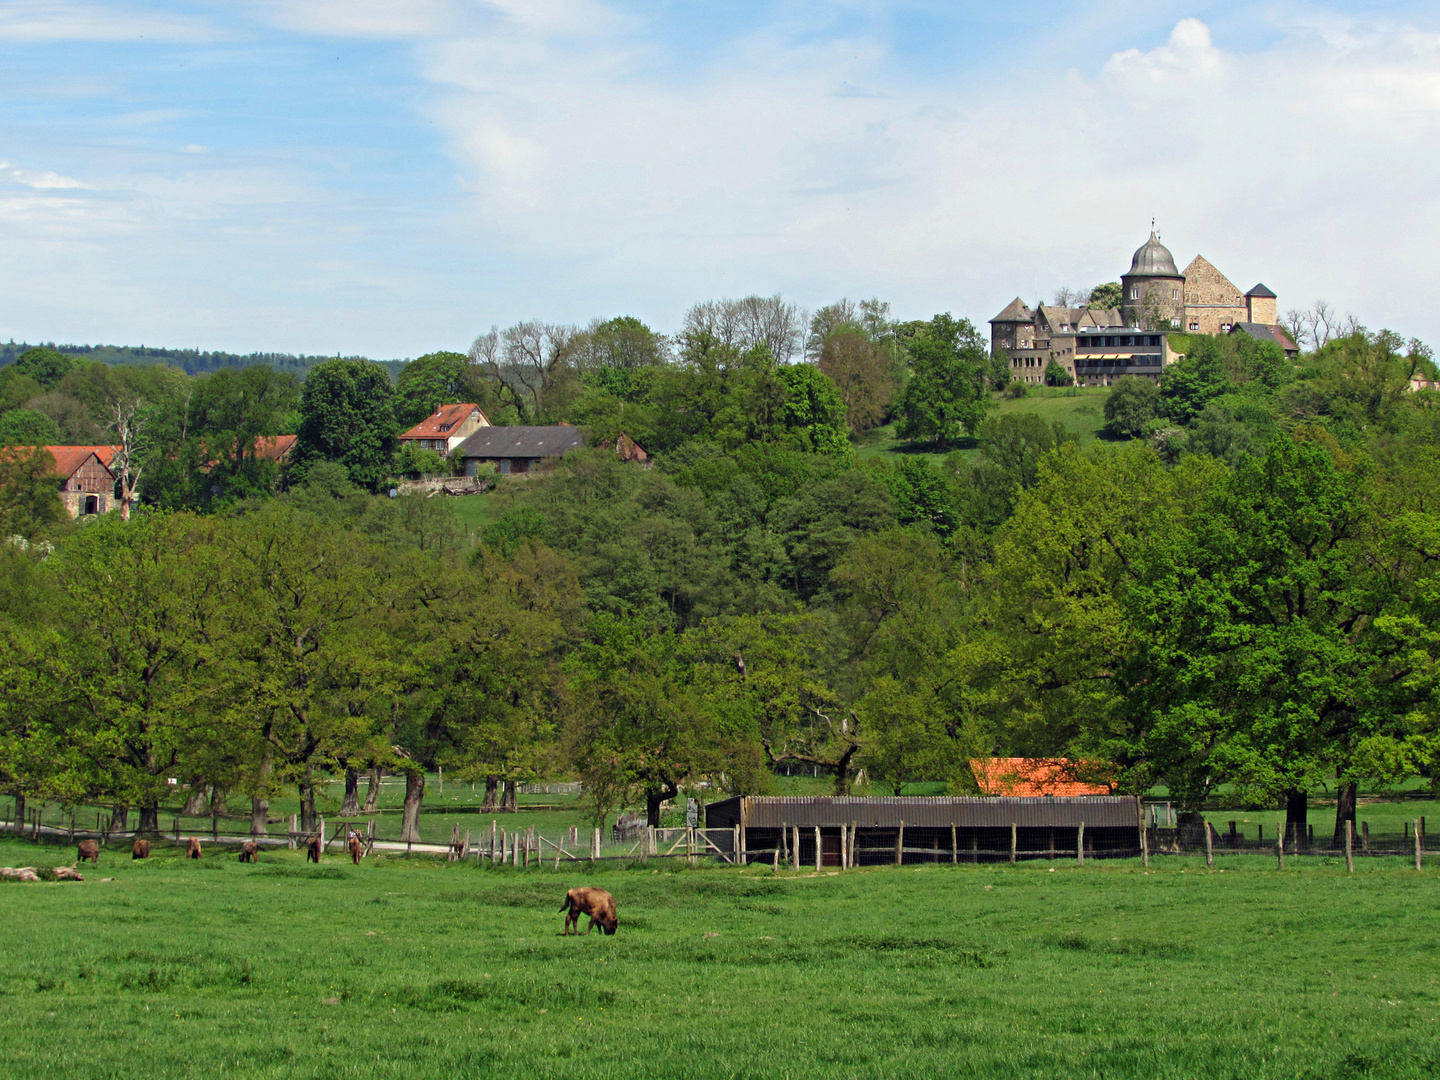
[[[1156,222],[1440,346],[1440,7],[0,0],[0,337],[413,357],[878,297],[976,324]]]

